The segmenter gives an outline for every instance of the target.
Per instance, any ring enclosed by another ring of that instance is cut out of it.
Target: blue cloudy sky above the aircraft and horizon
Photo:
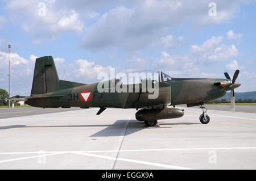
[[[30,95],[35,59],[52,56],[60,79],[141,70],[225,78],[256,90],[253,0],[0,0],[0,88]],[[65,70],[65,74],[64,74]]]

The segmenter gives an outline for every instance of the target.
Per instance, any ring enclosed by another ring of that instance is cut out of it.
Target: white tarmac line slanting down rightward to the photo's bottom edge
[[[89,156],[89,157],[111,159],[113,161],[132,162],[132,163],[140,163],[140,164],[151,165],[151,166],[156,166],[156,167],[164,167],[164,168],[167,168],[167,169],[194,170],[194,169],[189,169],[187,167],[180,167],[180,166],[174,166],[174,165],[166,165],[166,164],[162,164],[162,163],[139,161],[139,160],[135,160],[135,159],[115,158],[115,157],[109,157],[109,156],[104,156],[104,155],[90,154],[90,153],[80,153],[80,152],[72,152],[72,153],[85,155],[85,156]]]

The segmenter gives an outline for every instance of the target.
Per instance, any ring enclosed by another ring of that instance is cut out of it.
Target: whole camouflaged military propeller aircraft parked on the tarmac
[[[137,92],[99,92],[97,86],[100,82],[86,85],[60,80],[52,56],[46,56],[36,58],[31,96],[16,95],[10,100],[23,100],[30,106],[42,108],[98,107],[100,110],[97,115],[109,107],[135,108],[138,110],[136,119],[144,121],[148,127],[156,125],[159,119],[183,116],[184,110],[175,108],[175,105],[187,104],[187,107],[200,106],[203,113],[199,120],[207,124],[210,117],[206,114],[204,103],[221,98],[229,90],[232,93],[230,95],[234,111],[234,89],[241,85],[236,82],[238,74],[239,70],[236,70],[233,79],[228,73],[225,73],[226,79],[171,78],[163,72],[158,72],[158,80],[154,81],[158,81],[159,95],[155,99],[149,99],[148,95],[151,93],[141,91],[142,83],[129,85],[129,89],[138,86]],[[113,87],[118,81],[119,79],[111,79],[107,83],[109,87]],[[151,83],[154,84],[152,80]]]

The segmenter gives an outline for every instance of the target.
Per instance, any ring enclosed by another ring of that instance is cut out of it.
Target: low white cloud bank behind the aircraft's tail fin
[[[0,81],[1,89],[8,89],[9,61],[8,54],[0,52]],[[32,79],[37,56],[31,54],[29,59],[23,58],[17,53],[11,54],[11,96],[17,94],[30,95]],[[63,77],[63,69],[66,70],[65,78],[68,81],[93,83],[99,81],[97,75],[100,72],[110,73],[111,66],[102,66],[92,61],[76,60],[74,64],[65,65],[65,59],[54,58],[56,68],[59,72],[59,78]]]

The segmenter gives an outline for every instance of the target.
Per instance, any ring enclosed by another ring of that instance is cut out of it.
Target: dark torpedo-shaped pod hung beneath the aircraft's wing
[[[138,121],[159,120],[159,119],[172,119],[182,117],[184,110],[178,108],[163,108],[152,110],[139,110],[135,116]]]

